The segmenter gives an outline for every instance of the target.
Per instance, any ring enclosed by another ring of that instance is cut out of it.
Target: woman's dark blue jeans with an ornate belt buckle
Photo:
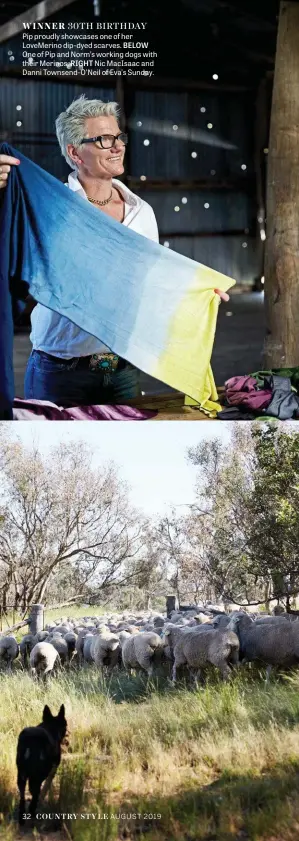
[[[120,404],[140,396],[140,371],[129,362],[108,376],[101,369],[78,369],[78,362],[33,350],[25,374],[25,398],[69,408]]]

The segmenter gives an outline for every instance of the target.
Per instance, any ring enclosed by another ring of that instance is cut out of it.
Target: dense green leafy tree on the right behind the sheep
[[[299,592],[298,437],[272,422],[235,425],[189,452],[199,467],[190,528],[208,522],[206,574],[216,597],[259,604]]]

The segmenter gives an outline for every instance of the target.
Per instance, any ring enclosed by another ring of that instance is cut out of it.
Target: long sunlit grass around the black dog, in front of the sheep
[[[43,812],[77,817],[59,829],[41,821],[36,838],[298,841],[298,690],[298,675],[265,687],[238,674],[195,692],[163,677],[106,681],[95,668],[61,673],[47,688],[20,669],[2,674],[0,838],[19,841],[18,733],[40,721],[45,702],[54,712],[63,702],[69,746]]]

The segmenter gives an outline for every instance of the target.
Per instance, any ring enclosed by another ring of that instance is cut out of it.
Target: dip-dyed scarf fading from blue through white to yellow
[[[219,408],[210,402],[214,289],[226,292],[234,281],[100,213],[8,144],[0,152],[21,161],[3,190],[0,220],[2,413],[13,401],[11,296],[21,283],[208,413]]]

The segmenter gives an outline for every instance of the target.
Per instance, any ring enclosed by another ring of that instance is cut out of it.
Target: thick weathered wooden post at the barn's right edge
[[[299,5],[282,2],[270,125],[266,368],[299,365]]]

